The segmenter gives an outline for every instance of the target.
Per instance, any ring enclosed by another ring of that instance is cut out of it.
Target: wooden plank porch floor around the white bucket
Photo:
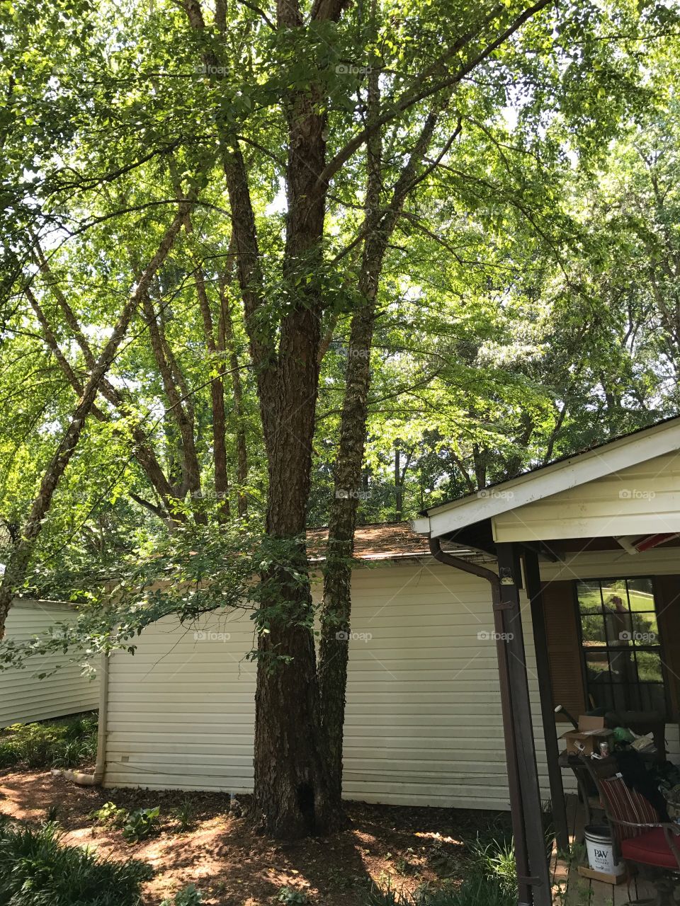
[[[553,853],[552,901],[555,906],[625,906],[635,900],[654,900],[654,887],[636,878],[628,878],[620,884],[582,878],[578,874],[578,863],[587,863],[583,837],[584,809],[577,795],[567,796],[567,818],[569,842],[574,855],[568,860],[563,853]]]

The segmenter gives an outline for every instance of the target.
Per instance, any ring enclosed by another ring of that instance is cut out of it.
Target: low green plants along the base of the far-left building
[[[0,737],[0,767],[78,767],[96,755],[97,717],[92,714],[14,724]]]

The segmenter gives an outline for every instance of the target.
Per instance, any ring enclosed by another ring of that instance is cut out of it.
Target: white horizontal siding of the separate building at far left
[[[7,616],[5,638],[27,640],[55,623],[72,622],[75,618],[69,604],[16,601]],[[51,676],[38,679],[38,673],[54,667],[58,669]],[[0,728],[98,707],[98,683],[84,677],[68,654],[50,654],[29,660],[21,670],[0,671]]]

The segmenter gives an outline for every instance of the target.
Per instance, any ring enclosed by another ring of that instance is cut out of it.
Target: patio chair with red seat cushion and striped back
[[[631,906],[675,906],[680,890],[680,825],[659,819],[655,807],[617,775],[613,759],[588,762],[612,831],[615,861],[633,863],[656,888],[656,900]]]

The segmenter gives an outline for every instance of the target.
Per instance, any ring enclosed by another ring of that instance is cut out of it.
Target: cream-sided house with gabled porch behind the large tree
[[[533,858],[541,802],[561,795],[555,705],[663,710],[680,760],[678,554],[680,418],[435,506],[413,530],[359,529],[345,795],[511,806]],[[104,785],[248,791],[252,645],[247,614],[214,612],[160,620],[133,657],[112,655]]]

